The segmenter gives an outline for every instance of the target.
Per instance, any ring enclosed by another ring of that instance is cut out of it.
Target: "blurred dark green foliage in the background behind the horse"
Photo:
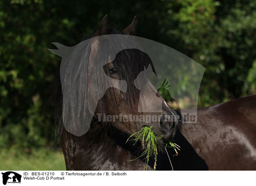
[[[119,30],[137,15],[137,36],[206,67],[200,107],[256,93],[255,9],[250,0],[1,0],[0,148],[53,146],[45,103],[61,59],[47,48],[79,43],[105,14]]]

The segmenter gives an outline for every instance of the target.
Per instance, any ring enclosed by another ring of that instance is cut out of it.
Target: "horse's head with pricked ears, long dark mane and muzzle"
[[[136,27],[135,16],[122,32],[109,29],[106,15],[94,37],[72,47],[53,43],[58,49],[49,49],[62,57],[62,118],[71,134],[86,134],[96,118],[129,135],[150,125],[164,139],[174,136],[177,121],[167,120],[176,113],[148,79],[156,72],[132,36]]]

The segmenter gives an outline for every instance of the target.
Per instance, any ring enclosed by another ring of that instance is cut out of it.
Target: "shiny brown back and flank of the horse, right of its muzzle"
[[[256,95],[198,108],[179,130],[209,170],[256,170]]]

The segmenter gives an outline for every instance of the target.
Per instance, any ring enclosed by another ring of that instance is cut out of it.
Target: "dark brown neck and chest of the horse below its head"
[[[110,124],[109,124],[110,125]],[[67,131],[61,134],[61,147],[67,170],[135,170],[143,169],[144,163],[136,159],[135,149],[125,144],[127,138],[121,132],[106,131],[96,121],[91,123],[87,134],[76,137]],[[136,162],[136,163],[135,163]]]

